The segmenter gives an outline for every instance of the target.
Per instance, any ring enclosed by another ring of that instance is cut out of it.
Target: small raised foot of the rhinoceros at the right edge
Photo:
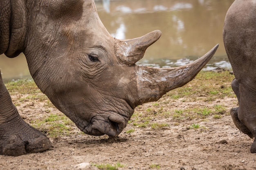
[[[234,124],[236,125],[236,127],[241,130],[244,134],[248,135],[250,138],[253,139],[253,135],[252,132],[245,126],[245,124],[243,124],[242,121],[240,121],[238,119],[238,108],[231,108],[230,109],[230,115],[234,121]],[[255,147],[256,147],[256,143],[255,143]]]

